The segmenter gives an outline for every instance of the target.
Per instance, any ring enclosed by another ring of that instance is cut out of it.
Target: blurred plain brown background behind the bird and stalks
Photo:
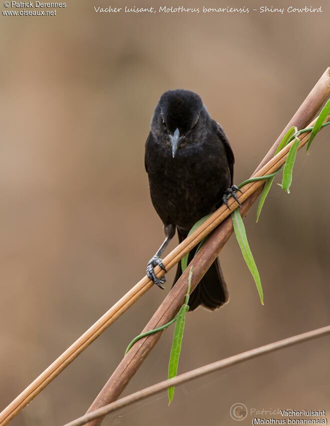
[[[201,95],[231,141],[239,183],[330,65],[326,2],[322,14],[299,16],[101,15],[93,6],[108,2],[67,5],[56,17],[1,17],[1,408],[144,275],[163,240],[144,170],[161,93]],[[180,372],[330,323],[329,138],[323,130],[310,155],[298,155],[291,194],[274,185],[260,223],[255,209],[245,222],[265,306],[232,238],[221,253],[230,303],[188,316]],[[165,294],[151,289],[13,426],[83,414]],[[171,338],[164,333],[126,393],[166,377]],[[170,408],[163,394],[103,424],[231,425],[234,402],[330,409],[329,355],[330,339],[320,338],[180,386]]]

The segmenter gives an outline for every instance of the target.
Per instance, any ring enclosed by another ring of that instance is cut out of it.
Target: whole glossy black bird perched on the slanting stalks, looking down
[[[160,288],[166,279],[157,278],[154,267],[159,265],[166,272],[160,256],[175,230],[181,242],[199,219],[222,202],[227,204],[229,195],[237,199],[233,164],[228,139],[201,98],[188,90],[165,92],[156,106],[145,150],[151,200],[166,235],[147,265],[147,276]],[[190,252],[189,262],[193,255]],[[181,274],[179,262],[173,285]],[[190,310],[199,305],[214,310],[227,301],[227,286],[216,259],[190,295]]]

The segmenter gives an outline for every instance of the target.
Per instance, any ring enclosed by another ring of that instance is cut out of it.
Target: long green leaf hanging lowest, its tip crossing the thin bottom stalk
[[[183,331],[184,326],[186,322],[186,313],[189,310],[189,294],[190,294],[190,287],[191,287],[191,277],[192,277],[192,267],[189,271],[188,276],[188,290],[186,294],[186,299],[184,304],[181,306],[179,313],[177,315],[177,320],[175,324],[174,329],[174,335],[173,335],[173,341],[172,341],[172,348],[171,348],[171,354],[170,354],[170,361],[168,364],[168,378],[175,377],[178,372],[178,365],[179,365],[179,358],[181,353],[181,345],[182,345],[182,338],[183,338]],[[168,404],[170,405],[173,401],[174,396],[174,386],[171,386],[168,388]]]

